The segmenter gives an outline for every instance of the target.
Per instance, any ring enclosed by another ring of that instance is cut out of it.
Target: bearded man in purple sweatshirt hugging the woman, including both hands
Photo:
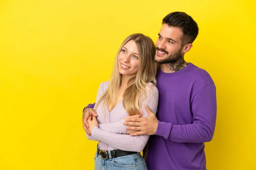
[[[209,74],[187,63],[184,54],[198,35],[197,23],[184,12],[163,18],[156,42],[155,61],[159,90],[158,113],[148,109],[146,118],[128,118],[131,136],[152,135],[148,145],[148,170],[206,170],[204,142],[212,140],[216,122],[216,91]],[[87,131],[88,105],[83,111]],[[137,131],[137,132],[135,132]]]

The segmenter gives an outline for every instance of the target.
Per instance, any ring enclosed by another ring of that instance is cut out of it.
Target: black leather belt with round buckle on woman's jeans
[[[108,150],[100,150],[97,147],[97,153],[99,154],[99,156],[102,159],[108,159],[108,157],[109,157],[108,156]],[[110,153],[111,153],[112,158],[117,158],[117,157],[120,157],[120,156],[127,156],[127,155],[131,155],[131,154],[135,154],[137,152],[124,151],[124,150],[111,150]]]

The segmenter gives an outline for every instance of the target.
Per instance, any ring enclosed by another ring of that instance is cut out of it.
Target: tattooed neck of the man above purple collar
[[[160,68],[165,73],[174,73],[185,68],[188,63],[184,60],[183,57],[179,57],[175,62],[161,64]]]

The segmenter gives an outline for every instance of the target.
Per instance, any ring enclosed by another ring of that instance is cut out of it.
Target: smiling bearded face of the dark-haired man
[[[182,30],[163,24],[158,35],[155,61],[160,64],[175,62],[182,51]]]

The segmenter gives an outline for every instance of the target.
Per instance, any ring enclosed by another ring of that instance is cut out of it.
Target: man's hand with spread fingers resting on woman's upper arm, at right
[[[139,136],[139,135],[154,135],[157,131],[158,120],[154,113],[145,105],[145,109],[148,112],[148,117],[143,118],[129,118],[126,119],[126,122],[123,122],[128,130],[135,130],[139,132],[131,133],[130,136]]]

